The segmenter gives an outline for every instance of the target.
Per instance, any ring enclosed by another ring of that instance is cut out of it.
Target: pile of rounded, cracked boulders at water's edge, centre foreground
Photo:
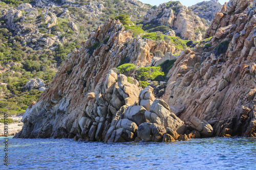
[[[191,123],[196,130],[187,136],[188,126],[170,112],[163,100],[155,99],[151,86],[140,89],[127,82],[126,76],[110,70],[101,87],[100,92],[87,94],[84,113],[70,131],[69,137],[74,140],[168,142],[200,137],[195,131],[205,131],[197,128],[201,122]]]

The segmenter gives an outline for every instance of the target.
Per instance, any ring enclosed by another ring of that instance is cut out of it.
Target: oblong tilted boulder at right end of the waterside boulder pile
[[[212,129],[208,122],[205,120],[200,120],[195,116],[190,120],[190,122],[187,123],[187,125],[200,132],[202,137],[210,137],[212,134],[214,134],[214,129]]]

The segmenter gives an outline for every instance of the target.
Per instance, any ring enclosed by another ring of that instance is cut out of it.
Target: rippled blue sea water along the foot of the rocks
[[[0,138],[1,157],[4,155]],[[207,138],[169,143],[9,139],[6,169],[256,169],[256,139]]]

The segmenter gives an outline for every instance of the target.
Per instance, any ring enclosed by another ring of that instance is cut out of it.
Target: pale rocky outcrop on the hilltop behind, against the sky
[[[175,31],[175,35],[194,41],[202,40],[202,33],[207,29],[199,16],[179,2],[163,3],[150,9],[144,16],[144,22],[167,26]]]

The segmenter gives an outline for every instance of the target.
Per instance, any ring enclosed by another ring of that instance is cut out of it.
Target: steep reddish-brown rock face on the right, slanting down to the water
[[[225,4],[207,30],[212,53],[202,46],[185,50],[168,72],[162,99],[184,106],[180,118],[186,122],[194,116],[210,122],[216,136],[255,136],[254,6]]]

